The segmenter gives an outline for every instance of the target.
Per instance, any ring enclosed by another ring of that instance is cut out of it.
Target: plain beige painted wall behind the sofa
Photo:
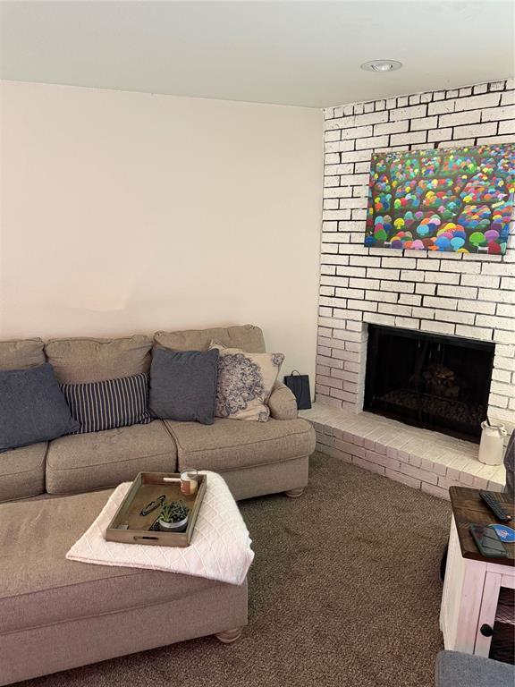
[[[0,338],[250,322],[314,380],[322,113],[4,81]]]

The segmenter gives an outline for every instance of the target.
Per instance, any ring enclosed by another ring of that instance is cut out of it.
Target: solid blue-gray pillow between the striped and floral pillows
[[[218,351],[166,351],[156,348],[150,366],[148,408],[163,420],[197,420],[212,425],[215,418]]]

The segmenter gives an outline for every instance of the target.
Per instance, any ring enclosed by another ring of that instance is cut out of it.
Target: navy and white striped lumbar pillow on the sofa
[[[60,386],[72,417],[80,422],[80,429],[73,434],[147,425],[152,420],[148,411],[148,375]]]

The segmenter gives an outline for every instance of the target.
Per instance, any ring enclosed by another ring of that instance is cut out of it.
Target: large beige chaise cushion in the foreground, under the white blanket
[[[165,603],[225,587],[174,573],[90,565],[64,556],[111,491],[0,505],[0,635]]]

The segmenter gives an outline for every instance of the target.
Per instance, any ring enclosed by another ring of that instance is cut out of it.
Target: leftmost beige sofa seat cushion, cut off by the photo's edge
[[[43,494],[47,447],[44,441],[0,454],[0,502]]]

